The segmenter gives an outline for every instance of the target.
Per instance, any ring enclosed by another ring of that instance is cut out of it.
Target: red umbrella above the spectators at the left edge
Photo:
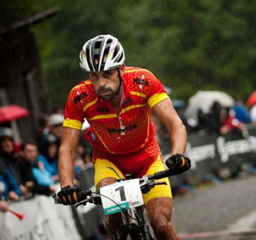
[[[9,122],[18,118],[24,118],[29,115],[26,108],[17,105],[1,106],[0,107],[0,123]]]

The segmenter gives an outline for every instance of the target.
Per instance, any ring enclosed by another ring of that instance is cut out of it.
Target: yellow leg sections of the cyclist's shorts
[[[95,186],[100,182],[100,180],[105,179],[106,177],[113,177],[115,179],[125,179],[124,175],[118,168],[116,168],[115,164],[111,163],[107,159],[96,159],[94,161],[94,168],[95,168]],[[156,161],[151,164],[149,167],[146,175],[151,175],[156,172],[160,172],[164,170],[164,164],[161,160],[161,157],[158,156]],[[164,179],[159,179],[157,181],[164,181],[167,185],[157,185],[154,188],[150,189],[148,193],[143,194],[144,203],[153,198],[157,198],[159,196],[167,196],[172,198],[172,191],[170,187],[169,179],[166,177]]]

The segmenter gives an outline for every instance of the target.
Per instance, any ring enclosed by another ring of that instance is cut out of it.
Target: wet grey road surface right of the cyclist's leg
[[[228,232],[256,230],[256,174],[242,173],[221,184],[196,188],[194,195],[173,198],[173,225],[179,236],[212,232],[222,236],[184,239],[253,240],[256,235],[225,236]],[[215,232],[216,231],[216,232]],[[190,235],[190,237],[192,237]]]

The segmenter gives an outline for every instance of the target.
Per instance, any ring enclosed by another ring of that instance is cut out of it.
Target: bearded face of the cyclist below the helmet
[[[122,76],[123,67],[120,67]],[[118,77],[118,68],[107,71],[89,72],[89,78],[92,81],[95,92],[104,100],[111,100],[118,92],[120,81]]]

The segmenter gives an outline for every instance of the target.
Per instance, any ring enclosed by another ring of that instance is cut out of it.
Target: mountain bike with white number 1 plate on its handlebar
[[[177,175],[172,170],[164,170],[152,175],[144,175],[140,179],[118,179],[115,184],[104,186],[99,189],[88,189],[80,192],[81,202],[76,204],[86,205],[100,204],[104,209],[104,214],[115,214],[120,212],[122,215],[123,227],[114,233],[115,240],[153,240],[154,236],[150,233],[149,225],[143,216],[142,194],[148,193],[156,185],[166,184],[166,182],[156,181],[164,177]],[[55,204],[60,204],[58,196],[53,193]]]

